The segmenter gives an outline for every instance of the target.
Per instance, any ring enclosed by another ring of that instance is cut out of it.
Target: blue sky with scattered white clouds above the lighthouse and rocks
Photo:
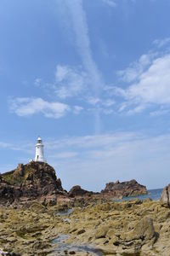
[[[170,183],[170,2],[1,0],[0,172],[35,156],[67,190]]]

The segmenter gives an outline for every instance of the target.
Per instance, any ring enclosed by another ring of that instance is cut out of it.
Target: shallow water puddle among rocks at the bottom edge
[[[66,251],[71,251],[71,252],[75,252],[75,253],[78,253],[78,252],[93,253],[93,255],[96,255],[96,256],[103,255],[103,253],[99,249],[90,247],[87,244],[76,245],[73,243],[66,243],[65,241],[68,238],[69,238],[69,236],[60,235],[52,241],[53,244],[57,245],[57,247],[54,248],[54,253],[62,253],[62,252],[66,252]]]

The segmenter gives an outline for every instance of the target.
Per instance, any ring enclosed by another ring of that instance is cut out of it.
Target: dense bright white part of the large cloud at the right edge
[[[127,90],[128,99],[144,103],[170,103],[170,55],[153,61],[150,67],[139,76],[139,82]]]

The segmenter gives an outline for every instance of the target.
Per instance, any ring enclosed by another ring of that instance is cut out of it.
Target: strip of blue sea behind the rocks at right
[[[129,201],[129,200],[136,199],[136,198],[138,198],[139,200],[144,200],[146,198],[150,198],[154,201],[159,201],[161,198],[162,190],[163,189],[148,189],[148,195],[123,197],[122,200],[119,200],[119,201]]]

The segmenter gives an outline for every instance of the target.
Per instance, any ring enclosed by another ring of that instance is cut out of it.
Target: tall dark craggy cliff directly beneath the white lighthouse
[[[61,181],[47,163],[32,161],[0,177],[0,202],[35,199],[55,202],[58,193],[64,193]]]

